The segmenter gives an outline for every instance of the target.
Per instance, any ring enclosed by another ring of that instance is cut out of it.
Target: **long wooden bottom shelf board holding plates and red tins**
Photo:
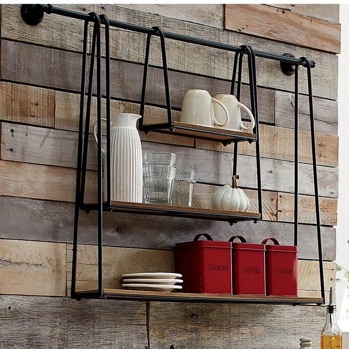
[[[76,292],[78,298],[93,297],[98,295],[98,290],[87,290]],[[212,302],[212,303],[273,303],[273,304],[322,304],[322,298],[305,297],[275,297],[275,296],[239,296],[239,295],[221,295],[221,294],[197,294],[181,292],[153,292],[127,289],[104,288],[103,297],[121,298],[134,300],[162,300],[177,302]]]

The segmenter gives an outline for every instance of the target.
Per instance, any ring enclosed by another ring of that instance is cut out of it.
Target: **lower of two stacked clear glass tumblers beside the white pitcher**
[[[176,167],[169,165],[143,164],[144,202],[156,205],[171,205]]]

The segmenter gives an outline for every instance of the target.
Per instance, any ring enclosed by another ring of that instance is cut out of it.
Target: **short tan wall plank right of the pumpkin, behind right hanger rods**
[[[279,193],[278,195],[278,221],[294,222],[294,195]],[[300,196],[298,198],[298,220],[316,224],[315,198]],[[326,225],[337,225],[337,200],[320,198],[320,222]]]

